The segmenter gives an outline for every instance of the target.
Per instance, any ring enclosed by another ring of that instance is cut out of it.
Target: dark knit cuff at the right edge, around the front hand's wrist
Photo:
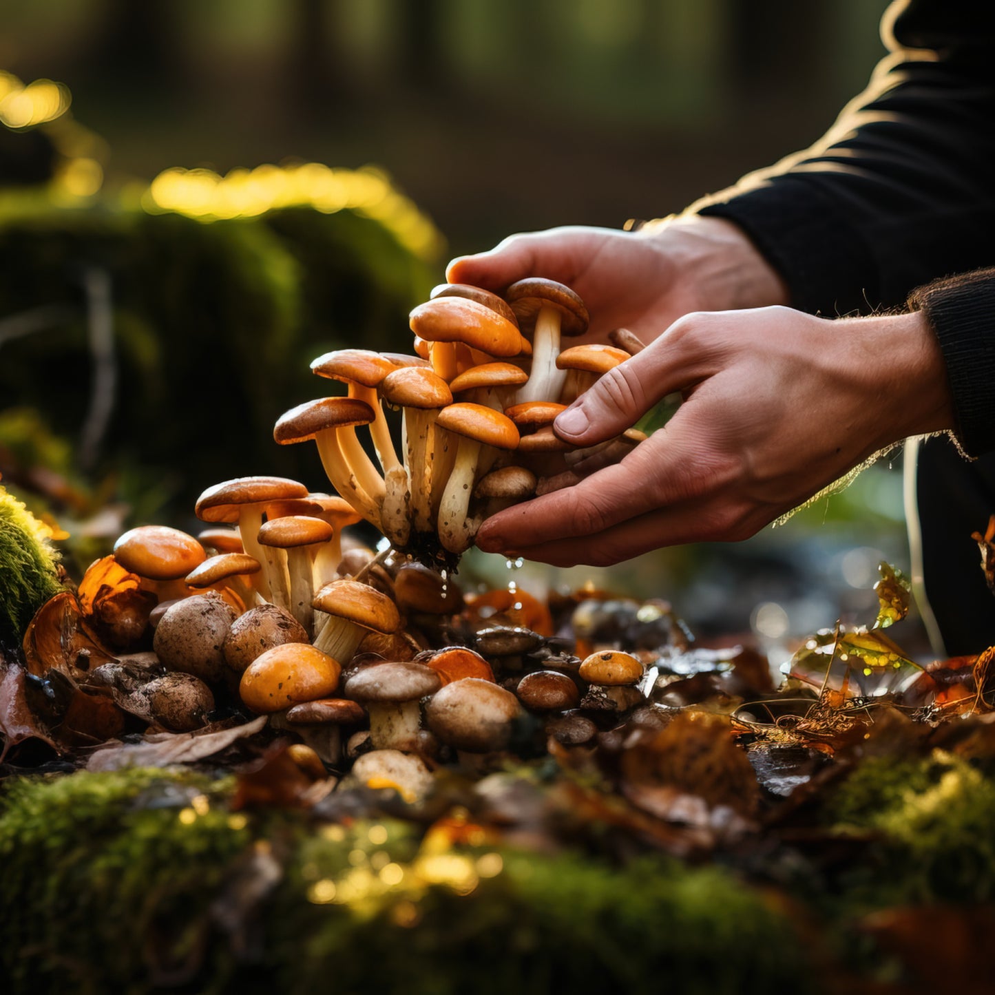
[[[964,451],[995,450],[995,269],[926,284],[908,306],[925,313],[939,340]]]

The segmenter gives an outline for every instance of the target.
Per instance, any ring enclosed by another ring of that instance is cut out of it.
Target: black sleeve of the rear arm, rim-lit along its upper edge
[[[899,0],[882,35],[889,56],[819,141],[692,208],[743,228],[813,313],[995,264],[995,2]]]

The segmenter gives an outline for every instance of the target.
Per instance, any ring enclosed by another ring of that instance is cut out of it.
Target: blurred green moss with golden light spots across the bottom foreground
[[[161,770],[10,787],[0,974],[12,995],[813,988],[787,918],[720,869],[440,844],[405,822],[233,815],[230,792]],[[267,880],[273,891],[256,888]]]

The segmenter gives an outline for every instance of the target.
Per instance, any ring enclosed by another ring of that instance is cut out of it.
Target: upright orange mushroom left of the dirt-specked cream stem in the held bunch
[[[446,381],[424,366],[406,366],[388,373],[380,384],[388,404],[404,412],[405,462],[411,487],[411,523],[416,531],[432,530],[434,482],[446,472],[445,453],[455,449],[436,431],[441,409],[453,403]]]

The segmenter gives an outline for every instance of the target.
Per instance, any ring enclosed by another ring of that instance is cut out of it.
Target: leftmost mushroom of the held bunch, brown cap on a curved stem
[[[331,486],[375,528],[380,528],[383,478],[359,445],[354,428],[371,421],[373,409],[365,401],[323,397],[284,412],[274,426],[273,438],[281,446],[313,439]],[[294,497],[306,494],[305,489]]]

